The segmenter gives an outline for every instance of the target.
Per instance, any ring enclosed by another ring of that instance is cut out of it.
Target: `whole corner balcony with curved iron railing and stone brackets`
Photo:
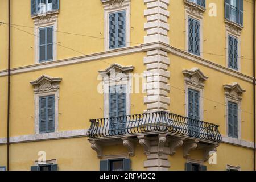
[[[159,155],[166,151],[166,146],[166,154],[170,155],[175,154],[177,147],[183,146],[184,157],[189,155],[189,151],[201,148],[204,159],[207,160],[209,152],[216,151],[222,139],[218,125],[166,111],[91,119],[90,122],[88,140],[92,143],[93,150],[96,150],[98,158],[102,158],[102,146],[118,142],[123,143],[133,156],[134,143],[139,140],[146,155],[152,153],[151,143],[158,143],[158,150],[153,152]]]

